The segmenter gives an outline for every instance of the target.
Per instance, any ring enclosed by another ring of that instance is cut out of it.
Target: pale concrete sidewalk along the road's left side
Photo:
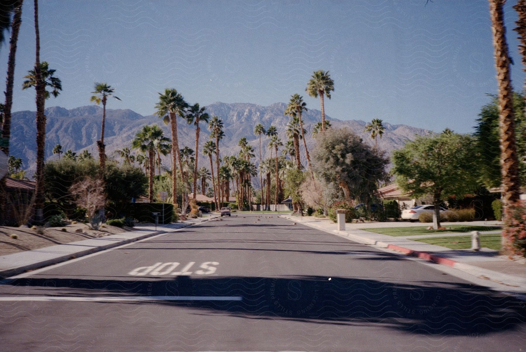
[[[1,255],[0,279],[22,273],[26,270],[42,268],[43,266],[64,262],[90,253],[122,246],[123,244],[135,242],[157,234],[177,231],[217,217],[219,217],[219,215],[210,215],[206,218],[187,219],[167,225],[157,225],[157,230],[153,223],[138,223],[134,227],[134,231],[122,232],[67,244],[59,244],[57,246],[39,248],[32,251]]]

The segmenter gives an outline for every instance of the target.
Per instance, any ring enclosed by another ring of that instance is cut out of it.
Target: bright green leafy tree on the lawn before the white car
[[[475,153],[469,135],[446,130],[419,136],[393,152],[392,173],[403,191],[414,197],[428,194],[433,197],[438,227],[441,200],[452,195],[462,198],[479,185]]]

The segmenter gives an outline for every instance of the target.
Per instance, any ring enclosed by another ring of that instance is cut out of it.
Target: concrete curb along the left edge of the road
[[[118,247],[118,246],[123,246],[123,244],[128,244],[128,243],[131,243],[131,242],[144,240],[145,238],[157,236],[158,234],[175,232],[175,231],[179,231],[181,229],[185,229],[185,228],[190,227],[190,226],[200,225],[201,223],[204,223],[204,222],[207,222],[207,221],[210,221],[210,220],[214,220],[214,219],[216,219],[218,217],[219,216],[214,216],[214,217],[211,217],[210,219],[206,219],[206,220],[203,220],[201,222],[185,224],[185,226],[182,226],[182,227],[180,227],[178,229],[173,229],[171,231],[152,231],[152,232],[148,232],[148,233],[143,234],[142,236],[138,236],[138,237],[135,237],[135,238],[129,238],[129,239],[123,239],[123,240],[108,239],[107,238],[107,240],[114,240],[114,242],[108,243],[105,246],[98,246],[98,247],[86,249],[86,250],[83,250],[83,251],[67,253],[67,254],[64,254],[64,255],[59,255],[58,257],[55,257],[55,258],[52,258],[52,259],[41,260],[41,261],[37,261],[37,262],[34,262],[34,263],[29,263],[29,264],[26,264],[26,265],[17,266],[15,268],[8,268],[8,269],[0,270],[0,280],[7,279],[7,278],[9,278],[9,276],[14,276],[16,274],[23,273],[23,272],[25,272],[27,270],[34,270],[34,269],[43,268],[44,266],[49,266],[49,265],[53,265],[53,264],[62,263],[62,262],[65,262],[67,260],[70,260],[70,259],[83,257],[84,255],[88,255],[88,254],[104,251],[104,250],[115,248],[115,247]],[[104,237],[101,237],[101,238],[98,238],[98,239],[104,239]],[[67,245],[68,243],[64,243],[64,244]],[[37,251],[38,251],[38,249],[37,249]]]

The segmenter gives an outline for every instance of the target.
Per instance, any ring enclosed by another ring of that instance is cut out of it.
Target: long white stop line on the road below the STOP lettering
[[[138,302],[138,301],[241,301],[241,296],[7,296],[0,302]]]

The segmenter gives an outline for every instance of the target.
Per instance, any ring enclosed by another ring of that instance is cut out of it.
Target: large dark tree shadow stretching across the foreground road
[[[491,334],[516,329],[520,338],[526,332],[524,302],[471,284],[401,284],[321,276],[143,276],[134,281],[86,278],[4,280],[0,296],[233,296],[241,300],[145,299],[126,304],[160,304],[167,309],[184,306],[200,315],[381,326],[423,335]]]

